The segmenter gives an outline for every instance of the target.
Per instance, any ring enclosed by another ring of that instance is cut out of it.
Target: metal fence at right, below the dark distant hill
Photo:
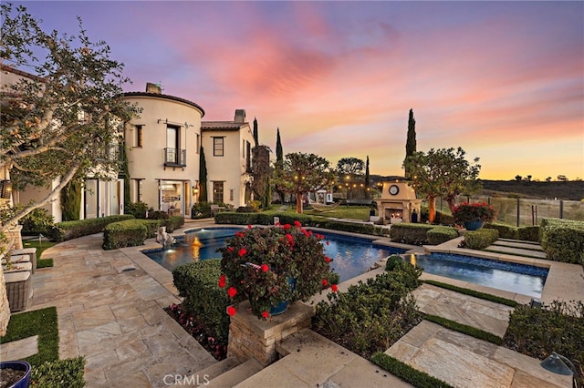
[[[497,221],[516,226],[538,225],[543,218],[584,220],[584,202],[578,200],[460,196],[456,202],[486,202],[497,210]],[[450,213],[442,199],[436,200],[436,209]]]

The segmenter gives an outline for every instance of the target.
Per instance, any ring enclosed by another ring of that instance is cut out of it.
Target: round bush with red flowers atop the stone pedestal
[[[235,233],[218,250],[223,272],[219,286],[234,302],[227,313],[234,315],[238,302],[249,300],[252,312],[267,319],[285,311],[288,303],[308,301],[329,285],[336,291],[338,275],[330,270],[323,240],[298,221],[268,228],[248,226]]]

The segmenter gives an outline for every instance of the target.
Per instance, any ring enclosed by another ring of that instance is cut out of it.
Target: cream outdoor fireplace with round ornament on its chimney
[[[422,199],[416,199],[415,191],[405,179],[393,179],[383,182],[381,198],[375,199],[377,209],[383,223],[411,222],[415,210],[420,220],[420,204]]]

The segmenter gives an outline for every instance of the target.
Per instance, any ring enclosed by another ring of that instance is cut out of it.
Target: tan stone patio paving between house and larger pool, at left
[[[46,250],[55,267],[33,278],[29,310],[57,306],[59,358],[84,355],[89,387],[166,386],[167,375],[216,362],[163,310],[179,299],[102,242],[98,234]]]

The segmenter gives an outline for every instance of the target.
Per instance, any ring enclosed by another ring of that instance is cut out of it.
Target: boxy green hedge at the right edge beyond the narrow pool
[[[543,219],[540,226],[547,259],[584,265],[584,221]]]

